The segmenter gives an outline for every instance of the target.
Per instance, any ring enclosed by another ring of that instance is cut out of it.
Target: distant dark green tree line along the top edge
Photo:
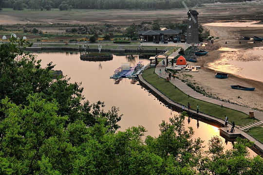
[[[14,10],[33,9],[60,10],[75,9],[174,9],[183,8],[182,1],[188,7],[201,6],[202,3],[242,2],[243,0],[0,0],[0,8]]]

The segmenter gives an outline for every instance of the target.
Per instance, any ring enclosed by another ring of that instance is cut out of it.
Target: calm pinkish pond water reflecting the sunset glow
[[[113,71],[118,68],[122,62],[131,62],[131,66],[138,61],[143,61],[144,65],[149,63],[147,59],[139,59],[138,55],[129,56],[113,56],[112,61],[106,62],[89,62],[81,61],[79,53],[36,53],[38,59],[41,59],[42,67],[49,62],[56,65],[55,70],[62,70],[63,75],[71,77],[72,82],[82,82],[84,87],[83,94],[90,103],[103,101],[106,110],[111,106],[119,107],[119,114],[123,114],[119,125],[120,130],[125,130],[131,126],[142,125],[146,127],[148,132],[146,135],[157,137],[160,133],[159,124],[165,120],[169,121],[169,117],[177,115],[175,111],[171,111],[163,105],[146,89],[141,88],[137,84],[131,84],[129,79],[123,79],[119,84],[114,84],[114,80],[110,79]],[[205,145],[213,136],[219,136],[219,129],[195,119],[185,121],[186,128],[193,127],[195,131],[194,138],[200,137],[205,140]],[[223,141],[225,139],[222,138]],[[231,149],[231,143],[225,144],[226,149]],[[254,154],[254,153],[253,153]]]

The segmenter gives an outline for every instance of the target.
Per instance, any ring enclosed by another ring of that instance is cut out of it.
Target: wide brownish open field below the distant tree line
[[[199,23],[207,23],[217,20],[263,20],[262,5],[259,6],[203,6],[196,7],[199,13]],[[85,10],[73,9],[70,11],[35,11],[25,9],[14,11],[13,9],[2,9],[0,11],[0,21],[6,24],[100,24],[111,23],[113,25],[128,26],[132,23],[140,24],[142,21],[153,21],[161,19],[161,23],[177,22],[180,23],[187,19],[187,10],[184,8],[173,10]],[[50,27],[60,30],[56,26]],[[41,30],[41,29],[40,29]],[[63,30],[61,30],[63,31]]]

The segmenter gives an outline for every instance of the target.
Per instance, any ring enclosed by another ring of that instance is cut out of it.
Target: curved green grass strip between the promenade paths
[[[173,102],[178,104],[183,104],[187,106],[188,102],[191,105],[191,109],[196,110],[197,104],[199,104],[199,111],[206,113],[207,115],[225,120],[225,115],[229,118],[230,121],[235,121],[236,125],[244,126],[249,123],[254,123],[253,119],[250,119],[249,116],[243,112],[229,109],[226,107],[221,107],[220,105],[211,104],[198,100],[192,97],[188,97],[187,94],[182,92],[178,88],[174,88],[174,85],[170,82],[165,81],[163,78],[158,78],[154,72],[154,68],[144,70],[143,78],[149,82],[152,86],[157,88],[163,94],[168,96]]]

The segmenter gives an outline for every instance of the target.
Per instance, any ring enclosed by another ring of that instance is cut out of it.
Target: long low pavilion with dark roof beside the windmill
[[[149,30],[149,31],[139,31],[138,32],[140,38],[142,38],[144,41],[161,41],[162,36],[163,39],[165,38],[171,38],[181,35],[182,30]]]

